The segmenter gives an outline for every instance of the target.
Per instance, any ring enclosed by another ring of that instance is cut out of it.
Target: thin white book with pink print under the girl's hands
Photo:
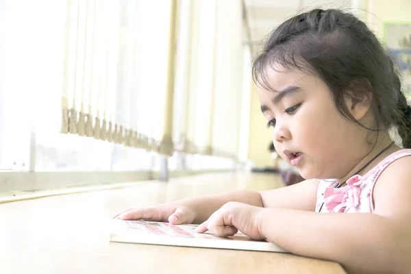
[[[287,252],[265,240],[251,240],[241,232],[227,238],[210,233],[195,233],[198,225],[172,225],[152,221],[113,220],[110,242],[129,242],[147,245],[205,247],[253,251]]]

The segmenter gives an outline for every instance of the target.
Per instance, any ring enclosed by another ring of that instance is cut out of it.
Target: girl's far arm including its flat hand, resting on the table
[[[115,219],[147,221],[173,221],[170,216],[177,219],[174,224],[202,223],[211,214],[219,210],[230,201],[246,203],[259,208],[292,208],[299,210],[314,210],[316,197],[316,182],[306,181],[284,188],[266,190],[262,192],[252,190],[237,190],[223,192],[216,195],[203,197],[190,197],[180,199],[173,203],[150,206],[147,208],[129,208],[119,212]]]

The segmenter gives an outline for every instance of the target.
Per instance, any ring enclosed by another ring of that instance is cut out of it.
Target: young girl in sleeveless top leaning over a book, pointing
[[[240,230],[349,273],[411,273],[411,108],[373,32],[340,10],[300,14],[273,31],[253,77],[275,150],[306,181],[116,218],[201,223],[197,232],[219,236]]]

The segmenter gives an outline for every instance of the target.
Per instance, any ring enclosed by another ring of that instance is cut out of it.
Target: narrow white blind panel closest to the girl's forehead
[[[214,66],[212,148],[215,155],[238,159],[242,108],[242,3],[218,1]],[[251,90],[249,90],[251,92]]]

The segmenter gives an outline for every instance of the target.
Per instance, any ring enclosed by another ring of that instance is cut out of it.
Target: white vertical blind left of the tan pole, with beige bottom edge
[[[161,150],[171,3],[67,1],[62,133]]]

